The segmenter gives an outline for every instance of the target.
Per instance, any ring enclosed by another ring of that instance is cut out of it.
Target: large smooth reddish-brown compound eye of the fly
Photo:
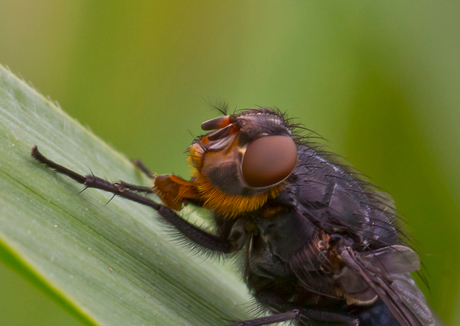
[[[291,174],[296,163],[297,147],[291,137],[262,137],[246,148],[243,178],[251,187],[275,185]]]

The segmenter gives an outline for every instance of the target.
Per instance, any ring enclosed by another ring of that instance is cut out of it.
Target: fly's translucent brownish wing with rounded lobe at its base
[[[441,325],[409,274],[420,266],[412,249],[398,245],[360,254],[347,248],[341,257],[345,267],[337,281],[350,303],[369,304],[378,296],[401,326]]]

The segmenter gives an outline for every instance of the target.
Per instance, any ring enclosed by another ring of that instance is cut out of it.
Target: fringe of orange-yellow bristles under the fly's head
[[[200,197],[204,200],[203,207],[212,209],[225,215],[227,218],[234,218],[241,213],[258,209],[264,205],[269,198],[278,196],[283,187],[283,184],[280,184],[260,195],[250,197],[230,196],[212,186],[196,169],[194,169],[193,175],[196,178],[194,181]]]

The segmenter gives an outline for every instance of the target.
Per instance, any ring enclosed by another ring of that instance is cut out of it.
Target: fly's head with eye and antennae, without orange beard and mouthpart
[[[297,146],[282,116],[252,109],[202,123],[210,131],[190,146],[197,172],[228,195],[251,196],[282,183],[297,163]]]

